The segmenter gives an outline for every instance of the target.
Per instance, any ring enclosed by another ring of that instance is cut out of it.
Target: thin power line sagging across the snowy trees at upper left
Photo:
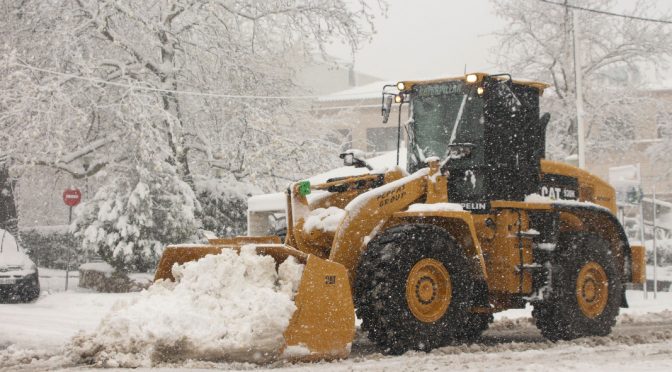
[[[53,70],[48,70],[48,69],[44,69],[44,68],[31,66],[31,65],[26,64],[26,63],[10,63],[10,64],[13,65],[13,66],[16,66],[16,67],[27,68],[29,70],[44,72],[44,73],[47,73],[47,74],[67,77],[67,78],[71,78],[71,79],[83,80],[83,81],[88,81],[88,82],[92,82],[92,83],[110,85],[110,86],[127,88],[127,89],[132,89],[132,90],[145,90],[145,91],[159,92],[159,93],[172,93],[172,94],[183,94],[183,95],[191,95],[191,96],[230,98],[230,99],[258,99],[258,100],[264,100],[264,99],[266,99],[266,100],[315,100],[317,98],[320,98],[320,96],[235,95],[235,94],[223,94],[223,93],[212,93],[212,92],[198,92],[198,91],[184,91],[184,90],[174,90],[174,89],[161,89],[161,88],[154,88],[154,87],[149,87],[149,86],[140,86],[140,85],[130,85],[130,84],[124,84],[124,83],[117,83],[117,82],[114,82],[114,81],[107,81],[107,80],[103,80],[103,79],[85,77],[85,76],[80,76],[80,75],[75,75],[75,74],[68,74],[68,73],[64,73],[64,72],[53,71]],[[344,96],[347,96],[347,95],[348,94],[344,94]],[[351,95],[356,95],[356,94],[353,93]]]

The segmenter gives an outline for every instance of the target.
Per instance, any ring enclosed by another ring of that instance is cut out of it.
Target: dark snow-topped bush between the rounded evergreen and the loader
[[[251,184],[228,179],[198,177],[195,182],[201,204],[202,228],[217,236],[244,235],[247,229],[247,198],[261,193]]]

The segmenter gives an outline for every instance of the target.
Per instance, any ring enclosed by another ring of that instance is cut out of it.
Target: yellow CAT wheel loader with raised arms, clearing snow
[[[306,266],[284,349],[308,350],[304,360],[347,357],[355,309],[391,354],[472,341],[493,313],[528,303],[551,340],[606,335],[627,306],[624,284],[644,281],[644,251],[615,218],[612,187],[544,159],[547,87],[482,73],[385,86],[385,122],[393,102],[409,108],[406,169],[296,182],[284,244],[169,246],[156,279],[246,244],[278,263],[296,257]]]

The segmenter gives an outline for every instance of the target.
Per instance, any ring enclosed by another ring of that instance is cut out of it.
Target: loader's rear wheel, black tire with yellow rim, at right
[[[544,337],[572,340],[611,332],[621,304],[622,283],[609,248],[607,241],[593,234],[574,232],[560,237],[552,259],[558,270],[551,292],[534,304],[532,312]]]

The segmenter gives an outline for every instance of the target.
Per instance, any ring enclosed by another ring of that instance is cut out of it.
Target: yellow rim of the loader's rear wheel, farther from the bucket
[[[588,318],[602,314],[609,298],[609,279],[597,262],[583,265],[576,278],[576,299],[581,312]]]

